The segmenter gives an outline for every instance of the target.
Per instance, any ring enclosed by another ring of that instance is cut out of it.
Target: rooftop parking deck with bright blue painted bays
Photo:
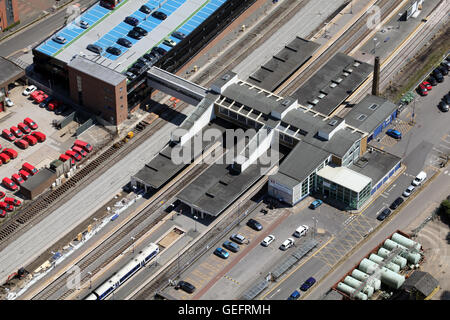
[[[168,1],[134,1],[123,0],[116,9],[108,10],[94,4],[79,19],[71,22],[57,31],[36,50],[44,54],[56,57],[64,62],[69,62],[76,54],[83,54],[90,60],[119,72],[125,71],[129,65],[148,52],[153,46],[160,46],[167,51],[172,48],[162,44],[166,37],[170,37],[174,31],[191,33],[198,25],[207,19],[227,0],[168,0]],[[164,21],[146,15],[139,11],[143,5],[147,5],[154,11],[158,10],[167,15]],[[161,7],[159,7],[161,6]],[[141,40],[135,40],[127,36],[133,27],[124,22],[125,17],[137,18],[139,26],[148,31],[148,35]],[[79,20],[87,21],[90,26],[82,29],[78,26]],[[53,36],[63,36],[67,42],[58,44],[52,40]],[[131,48],[120,46],[116,41],[124,37],[133,43]],[[175,43],[181,40],[170,37]],[[101,56],[86,49],[87,45],[96,44],[103,48]],[[113,46],[119,48],[122,53],[115,56],[105,52],[106,48]]]

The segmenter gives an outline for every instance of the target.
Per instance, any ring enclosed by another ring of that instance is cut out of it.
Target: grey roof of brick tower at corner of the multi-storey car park
[[[109,83],[112,86],[117,86],[122,81],[127,80],[125,75],[79,55],[75,56],[75,58],[69,62],[68,66],[103,82]]]

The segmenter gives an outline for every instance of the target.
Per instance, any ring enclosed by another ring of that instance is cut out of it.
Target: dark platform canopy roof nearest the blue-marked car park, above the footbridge
[[[247,81],[268,91],[274,91],[308,61],[319,47],[317,43],[296,37],[253,73]]]

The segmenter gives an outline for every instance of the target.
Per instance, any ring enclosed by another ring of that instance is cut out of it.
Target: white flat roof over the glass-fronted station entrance
[[[325,166],[317,175],[354,192],[361,192],[372,179],[347,167]]]

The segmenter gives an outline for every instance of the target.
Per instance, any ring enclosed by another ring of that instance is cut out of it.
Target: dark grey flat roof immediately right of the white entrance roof
[[[372,152],[366,152],[349,168],[372,178],[372,185],[376,186],[401,160],[401,158],[388,152],[373,149]]]

